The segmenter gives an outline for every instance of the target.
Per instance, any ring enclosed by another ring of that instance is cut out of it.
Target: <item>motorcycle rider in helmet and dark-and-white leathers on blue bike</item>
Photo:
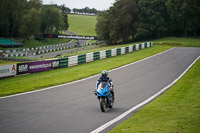
[[[108,76],[108,71],[103,70],[103,71],[101,72],[101,77],[97,80],[96,88],[95,88],[95,93],[94,93],[94,94],[97,95],[97,94],[96,94],[96,90],[97,90],[97,88],[98,88],[98,85],[99,85],[101,82],[109,82],[109,90],[110,90],[110,92],[111,92],[111,94],[112,94],[112,96],[113,96],[113,100],[114,100],[114,91],[113,91],[114,86],[113,86],[112,80],[111,80],[109,77],[107,77],[107,76]]]

